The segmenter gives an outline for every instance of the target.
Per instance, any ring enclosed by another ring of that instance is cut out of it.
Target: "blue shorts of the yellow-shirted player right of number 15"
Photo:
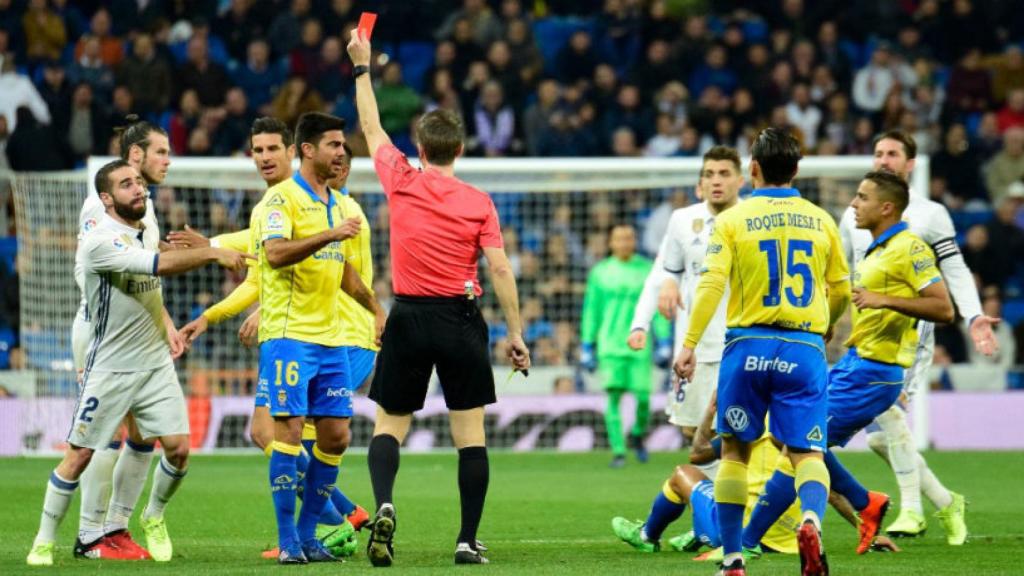
[[[899,399],[903,368],[850,348],[828,373],[828,445],[847,442]]]

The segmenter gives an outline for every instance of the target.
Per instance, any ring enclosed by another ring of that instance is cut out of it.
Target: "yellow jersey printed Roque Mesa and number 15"
[[[759,189],[715,221],[686,345],[696,345],[715,310],[698,305],[701,292],[707,301],[717,294],[717,302],[726,282],[729,328],[773,326],[824,334],[829,325],[827,287],[849,276],[839,229],[828,212],[796,189]]]

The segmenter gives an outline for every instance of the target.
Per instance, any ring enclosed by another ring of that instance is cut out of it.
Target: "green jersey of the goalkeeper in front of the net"
[[[605,258],[590,271],[583,300],[580,340],[584,344],[594,344],[599,358],[628,356],[649,361],[652,338],[647,339],[647,347],[643,351],[631,349],[626,339],[630,336],[633,308],[640,299],[651,265],[651,260],[633,255],[626,261]],[[669,337],[669,322],[660,315],[654,317],[653,332],[655,338]]]

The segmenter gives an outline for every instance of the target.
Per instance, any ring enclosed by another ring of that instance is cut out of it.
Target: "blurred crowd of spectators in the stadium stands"
[[[0,168],[79,167],[115,152],[114,128],[132,113],[164,127],[177,156],[244,155],[260,115],[294,124],[323,110],[355,127],[343,39],[373,9],[382,123],[411,156],[410,127],[436,108],[461,114],[467,154],[479,157],[699,156],[715,145],[745,155],[768,125],[793,130],[807,155],[870,154],[879,131],[911,132],[931,155],[929,193],[953,213],[986,313],[1010,320],[991,361],[1009,367],[1024,364],[1024,346],[1013,352],[1015,331],[1024,341],[1024,12],[1013,4],[0,0]],[[244,228],[257,200],[218,192],[187,205],[187,194],[157,192],[166,230]],[[575,361],[583,287],[607,253],[604,231],[634,222],[652,255],[657,222],[693,201],[691,192],[499,196],[540,365]],[[387,206],[367,204],[386,294]],[[0,326],[16,331],[8,252]],[[174,305],[183,323],[205,304]],[[938,341],[938,364],[984,362],[958,325]]]

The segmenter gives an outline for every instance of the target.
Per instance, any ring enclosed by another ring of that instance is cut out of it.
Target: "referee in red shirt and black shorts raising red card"
[[[370,82],[370,42],[359,37],[358,29],[352,31],[348,54],[354,65],[359,124],[391,211],[395,294],[370,387],[370,398],[378,405],[368,456],[377,515],[367,556],[374,566],[391,565],[398,447],[409,434],[413,412],[423,408],[436,367],[459,449],[462,529],[455,562],[484,564],[476,540],[489,476],[483,407],[496,398],[487,326],[476,305],[481,294],[476,276],[480,251],[505,312],[509,359],[516,370],[526,370],[529,351],[522,340],[515,277],[490,197],[455,177],[464,137],[459,118],[438,110],[420,119],[416,141],[423,170],[413,168],[381,127]]]

